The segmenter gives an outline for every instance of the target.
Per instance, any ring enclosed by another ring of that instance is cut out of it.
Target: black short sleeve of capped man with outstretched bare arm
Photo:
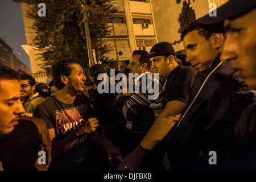
[[[195,73],[187,69],[183,69],[179,73],[177,73],[177,76],[168,85],[170,87],[170,92],[167,97],[167,102],[180,101],[184,104],[187,104],[189,99],[189,93],[195,81],[195,77]]]

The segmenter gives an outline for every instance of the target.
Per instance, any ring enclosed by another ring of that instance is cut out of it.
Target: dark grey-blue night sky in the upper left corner
[[[30,68],[27,53],[20,46],[27,44],[27,41],[24,33],[22,9],[19,3],[11,0],[0,0],[0,36],[13,48],[14,53],[22,53],[16,56]]]

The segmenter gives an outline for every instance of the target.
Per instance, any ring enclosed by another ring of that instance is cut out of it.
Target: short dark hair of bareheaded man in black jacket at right
[[[209,40],[209,38],[213,34],[213,32],[206,30],[200,24],[193,22],[181,33],[181,35],[180,35],[181,40],[183,40],[184,36],[187,35],[189,32],[192,32],[193,30],[197,30],[199,32],[199,35],[204,36],[204,38],[207,40]]]

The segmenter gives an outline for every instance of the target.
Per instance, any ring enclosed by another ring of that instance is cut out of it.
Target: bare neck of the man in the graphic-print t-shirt
[[[63,102],[64,104],[72,104],[76,98],[76,93],[73,92],[73,90],[68,89],[67,86],[65,86],[58,93],[55,94],[55,97],[57,98],[57,100]]]

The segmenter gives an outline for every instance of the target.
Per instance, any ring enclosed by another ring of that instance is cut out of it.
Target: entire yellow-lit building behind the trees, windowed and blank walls
[[[195,10],[196,18],[199,18],[209,13],[210,3],[216,3],[218,7],[228,0],[114,0],[118,11],[109,17],[108,26],[111,32],[103,39],[113,47],[113,51],[106,53],[105,56],[119,60],[119,68],[122,71],[129,63],[131,53],[135,49],[150,51],[158,42],[174,43],[180,40],[179,17],[184,1]],[[30,46],[35,31],[30,28],[33,20],[26,17],[27,10],[28,6],[22,3],[27,39],[27,45],[22,47],[30,57],[31,72],[44,74],[43,80],[46,80],[46,71],[39,66],[43,61],[36,55],[40,52]],[[183,43],[176,43],[174,48],[176,51],[181,51]]]

